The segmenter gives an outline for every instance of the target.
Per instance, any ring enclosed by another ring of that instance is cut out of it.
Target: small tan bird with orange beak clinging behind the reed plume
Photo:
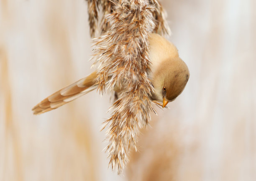
[[[189,69],[179,58],[175,45],[156,33],[149,33],[149,57],[151,61],[148,78],[153,85],[151,101],[162,108],[174,101],[184,90],[189,80]],[[98,71],[51,94],[32,108],[33,114],[41,114],[69,103],[97,89]],[[122,88],[114,88],[116,92]],[[160,102],[160,103],[159,103]]]

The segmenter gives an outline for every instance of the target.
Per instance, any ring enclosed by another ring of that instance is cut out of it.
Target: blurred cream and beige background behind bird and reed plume
[[[161,2],[190,79],[118,176],[102,151],[109,94],[31,111],[91,72],[87,3],[0,0],[1,181],[256,180],[256,1]]]

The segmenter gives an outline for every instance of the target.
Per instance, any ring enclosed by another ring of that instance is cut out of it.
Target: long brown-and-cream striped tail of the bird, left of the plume
[[[95,90],[98,86],[95,79],[96,77],[97,71],[53,93],[32,108],[33,114],[41,114],[59,108],[60,106]]]

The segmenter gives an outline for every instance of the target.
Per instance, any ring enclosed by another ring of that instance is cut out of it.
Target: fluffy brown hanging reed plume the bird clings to
[[[93,14],[95,1],[90,3]],[[130,146],[136,148],[139,128],[148,124],[149,113],[153,110],[150,101],[153,88],[147,76],[150,64],[148,33],[169,33],[169,28],[156,0],[99,0],[97,5],[108,13],[108,8],[113,8],[103,20],[108,26],[101,27],[102,32],[107,30],[106,33],[95,43],[95,64],[100,67],[98,90],[103,93],[105,88],[114,90],[115,86],[123,86],[125,90],[111,106],[112,115],[104,125],[105,128],[109,124],[106,131],[109,164],[120,174],[128,162]],[[89,16],[92,35],[96,28],[94,20]]]

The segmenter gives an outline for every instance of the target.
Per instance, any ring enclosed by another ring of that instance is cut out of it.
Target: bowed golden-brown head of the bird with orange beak
[[[156,101],[163,101],[164,108],[182,93],[188,79],[189,70],[187,65],[179,57],[161,63],[153,77]]]

